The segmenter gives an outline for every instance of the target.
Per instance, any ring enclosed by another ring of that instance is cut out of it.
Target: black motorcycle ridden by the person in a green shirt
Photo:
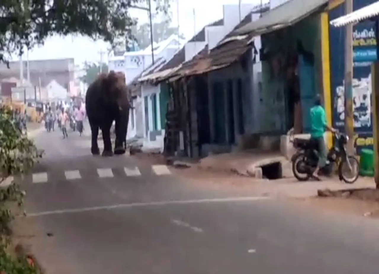
[[[329,150],[327,163],[320,171],[326,176],[331,176],[334,167],[337,165],[340,181],[353,184],[359,177],[359,163],[354,156],[348,155],[346,151],[349,137],[340,133],[335,133],[334,136],[335,145]],[[297,149],[297,152],[291,157],[293,175],[299,181],[308,181],[317,167],[318,143],[312,138],[309,140],[294,138],[291,142]],[[353,174],[352,178],[346,177],[344,173],[346,167]]]

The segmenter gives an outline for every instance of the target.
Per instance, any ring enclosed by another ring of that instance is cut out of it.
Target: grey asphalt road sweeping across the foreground
[[[48,274],[378,273],[377,221],[206,191],[130,156],[92,157],[89,138],[73,133],[36,138],[46,151],[39,182],[30,175],[23,186]]]

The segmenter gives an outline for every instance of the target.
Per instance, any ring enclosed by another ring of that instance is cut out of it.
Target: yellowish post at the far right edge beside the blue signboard
[[[371,65],[371,85],[375,184],[379,188],[379,61]]]

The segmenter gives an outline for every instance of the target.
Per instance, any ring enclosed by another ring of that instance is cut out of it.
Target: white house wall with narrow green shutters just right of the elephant
[[[153,95],[156,96],[155,101],[155,113],[156,113],[156,121],[157,128],[154,129],[154,121],[153,121],[153,103],[152,100]],[[163,150],[163,138],[164,138],[164,125],[161,123],[161,115],[160,115],[160,86],[152,86],[145,84],[141,87],[141,96],[142,96],[142,117],[143,117],[143,125],[144,125],[144,140],[143,146],[145,148],[160,148]],[[146,105],[147,103],[147,105]],[[147,117],[146,117],[147,115]]]

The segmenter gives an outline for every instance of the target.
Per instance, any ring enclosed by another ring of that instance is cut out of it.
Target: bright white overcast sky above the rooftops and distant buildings
[[[179,9],[177,5],[178,1]],[[221,19],[222,5],[232,3],[238,4],[238,0],[174,0],[171,4],[172,24],[178,25],[179,10],[180,32],[185,35],[186,39],[189,39],[195,32],[201,30],[204,25]],[[242,3],[259,4],[260,0],[242,0]],[[135,9],[132,11],[132,16],[138,17],[141,23],[148,21],[146,11]],[[104,51],[106,48],[105,42],[94,42],[86,37],[51,37],[46,40],[43,47],[31,50],[29,52],[29,59],[74,58],[75,64],[80,65],[85,61],[99,61],[99,51]],[[26,56],[23,59],[26,59]]]

